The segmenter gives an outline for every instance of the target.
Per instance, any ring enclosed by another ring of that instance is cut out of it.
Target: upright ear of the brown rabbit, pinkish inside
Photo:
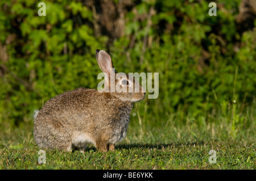
[[[98,65],[100,66],[101,70],[110,76],[110,70],[114,68],[114,66],[109,54],[105,50],[99,49],[95,51],[95,54]]]

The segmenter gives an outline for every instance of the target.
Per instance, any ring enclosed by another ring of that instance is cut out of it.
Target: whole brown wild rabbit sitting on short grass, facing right
[[[49,99],[35,111],[34,139],[39,148],[84,151],[92,143],[98,151],[114,151],[115,143],[126,137],[133,104],[144,99],[146,91],[139,84],[139,91],[134,91],[138,82],[124,73],[114,83],[133,92],[110,91],[110,74],[117,75],[112,58],[97,49],[96,60],[108,75],[103,91],[80,87]]]

